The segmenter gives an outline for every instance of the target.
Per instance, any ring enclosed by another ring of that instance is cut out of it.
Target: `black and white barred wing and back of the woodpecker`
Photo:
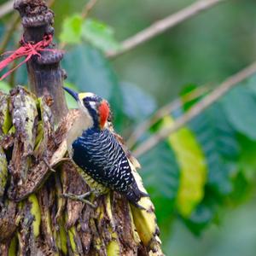
[[[125,193],[135,182],[123,148],[108,130],[84,131],[73,143],[73,160],[110,189]]]

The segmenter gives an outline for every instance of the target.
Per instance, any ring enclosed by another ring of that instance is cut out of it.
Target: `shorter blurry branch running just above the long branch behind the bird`
[[[137,143],[137,140],[143,136],[143,133],[145,131],[148,131],[148,129],[152,125],[157,123],[160,119],[172,113],[177,108],[182,108],[185,103],[190,102],[198,98],[199,96],[206,94],[207,92],[209,92],[209,89],[207,87],[199,87],[196,90],[189,92],[185,96],[182,96],[182,101],[179,98],[158,109],[152,117],[145,120],[142,124],[138,125],[137,128],[132,132],[131,136],[128,138],[128,140],[126,140],[128,148],[132,148]]]

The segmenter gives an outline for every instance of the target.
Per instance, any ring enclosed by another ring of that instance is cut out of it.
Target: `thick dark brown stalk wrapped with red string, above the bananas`
[[[54,33],[53,13],[42,0],[16,0],[15,9],[20,12],[24,28],[24,40],[38,43],[44,35]],[[65,73],[60,67],[61,51],[43,51],[41,57],[33,56],[27,62],[29,85],[37,96],[51,96],[54,102],[51,110],[55,123],[67,114],[67,104],[61,89]]]

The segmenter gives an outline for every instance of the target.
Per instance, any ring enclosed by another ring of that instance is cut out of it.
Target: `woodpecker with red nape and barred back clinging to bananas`
[[[132,205],[145,210],[138,201],[149,195],[139,189],[128,155],[108,129],[112,116],[108,101],[91,92],[63,89],[79,106],[79,119],[67,134],[67,149],[73,162],[82,169],[83,177],[100,184],[102,191],[112,189],[125,195]]]

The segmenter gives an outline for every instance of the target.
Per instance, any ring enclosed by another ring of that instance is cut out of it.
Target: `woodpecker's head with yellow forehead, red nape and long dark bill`
[[[91,92],[77,93],[67,87],[63,89],[78,102],[79,109],[91,119],[92,125],[102,130],[110,114],[108,102]]]

